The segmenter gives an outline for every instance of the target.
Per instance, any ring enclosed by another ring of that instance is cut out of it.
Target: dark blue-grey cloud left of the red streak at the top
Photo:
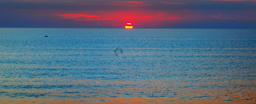
[[[62,10],[102,10],[102,9],[121,9],[123,6],[111,5],[100,2],[4,2],[0,1],[2,9],[62,9]]]

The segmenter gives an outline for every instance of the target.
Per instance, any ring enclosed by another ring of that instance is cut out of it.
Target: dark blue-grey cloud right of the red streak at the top
[[[255,1],[188,1],[184,4],[152,3],[146,9],[162,10],[256,10]]]

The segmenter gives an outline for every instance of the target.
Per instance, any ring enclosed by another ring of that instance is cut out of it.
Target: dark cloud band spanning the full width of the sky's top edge
[[[0,1],[0,8],[16,9],[127,9],[145,8],[145,9],[164,9],[164,10],[246,10],[256,9],[255,1],[208,1],[208,0],[160,0],[160,1],[117,1],[117,0],[86,0],[67,2],[60,0],[52,1]]]

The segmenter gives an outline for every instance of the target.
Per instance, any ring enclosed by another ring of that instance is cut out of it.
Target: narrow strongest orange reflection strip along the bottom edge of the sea
[[[247,104],[247,103],[255,103],[252,100],[240,100],[240,101],[205,101],[205,100],[180,100],[177,98],[138,98],[138,97],[102,97],[102,98],[79,98],[79,99],[43,99],[43,98],[32,98],[32,99],[2,99],[1,103],[19,103],[19,104],[27,104],[27,103],[51,103],[51,104],[160,104],[160,103],[173,103],[173,104],[191,104],[191,103],[207,103],[207,104],[220,104],[220,103],[232,103],[232,104]]]

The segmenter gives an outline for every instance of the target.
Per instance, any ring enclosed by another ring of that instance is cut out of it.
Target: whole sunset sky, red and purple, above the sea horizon
[[[0,0],[1,28],[256,29],[256,0]]]

